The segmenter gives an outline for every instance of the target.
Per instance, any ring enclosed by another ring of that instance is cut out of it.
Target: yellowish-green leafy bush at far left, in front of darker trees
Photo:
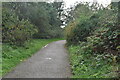
[[[25,41],[32,38],[37,29],[28,20],[21,21],[14,11],[7,8],[2,11],[2,39],[3,42],[10,44],[22,45]]]

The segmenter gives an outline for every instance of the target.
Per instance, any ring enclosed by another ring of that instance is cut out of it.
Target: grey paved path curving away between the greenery
[[[5,78],[67,78],[71,76],[65,40],[48,44]]]

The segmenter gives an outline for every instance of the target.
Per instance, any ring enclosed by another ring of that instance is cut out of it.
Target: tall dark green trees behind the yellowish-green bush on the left
[[[14,10],[19,19],[27,19],[34,24],[38,33],[34,34],[34,38],[54,38],[62,36],[60,28],[62,2],[10,2],[3,3],[3,6]],[[59,13],[59,14],[58,14]]]

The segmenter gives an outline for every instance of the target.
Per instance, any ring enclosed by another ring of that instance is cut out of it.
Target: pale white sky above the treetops
[[[107,4],[111,3],[111,0],[63,0],[66,4],[66,8],[70,7],[71,5],[74,5],[76,2],[93,2],[97,1],[100,4],[103,4],[103,6],[106,6]]]

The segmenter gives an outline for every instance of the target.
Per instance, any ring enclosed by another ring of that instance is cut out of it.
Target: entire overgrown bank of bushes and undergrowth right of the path
[[[66,30],[72,73],[77,78],[119,77],[118,5],[79,3]],[[111,7],[110,7],[111,6]]]

